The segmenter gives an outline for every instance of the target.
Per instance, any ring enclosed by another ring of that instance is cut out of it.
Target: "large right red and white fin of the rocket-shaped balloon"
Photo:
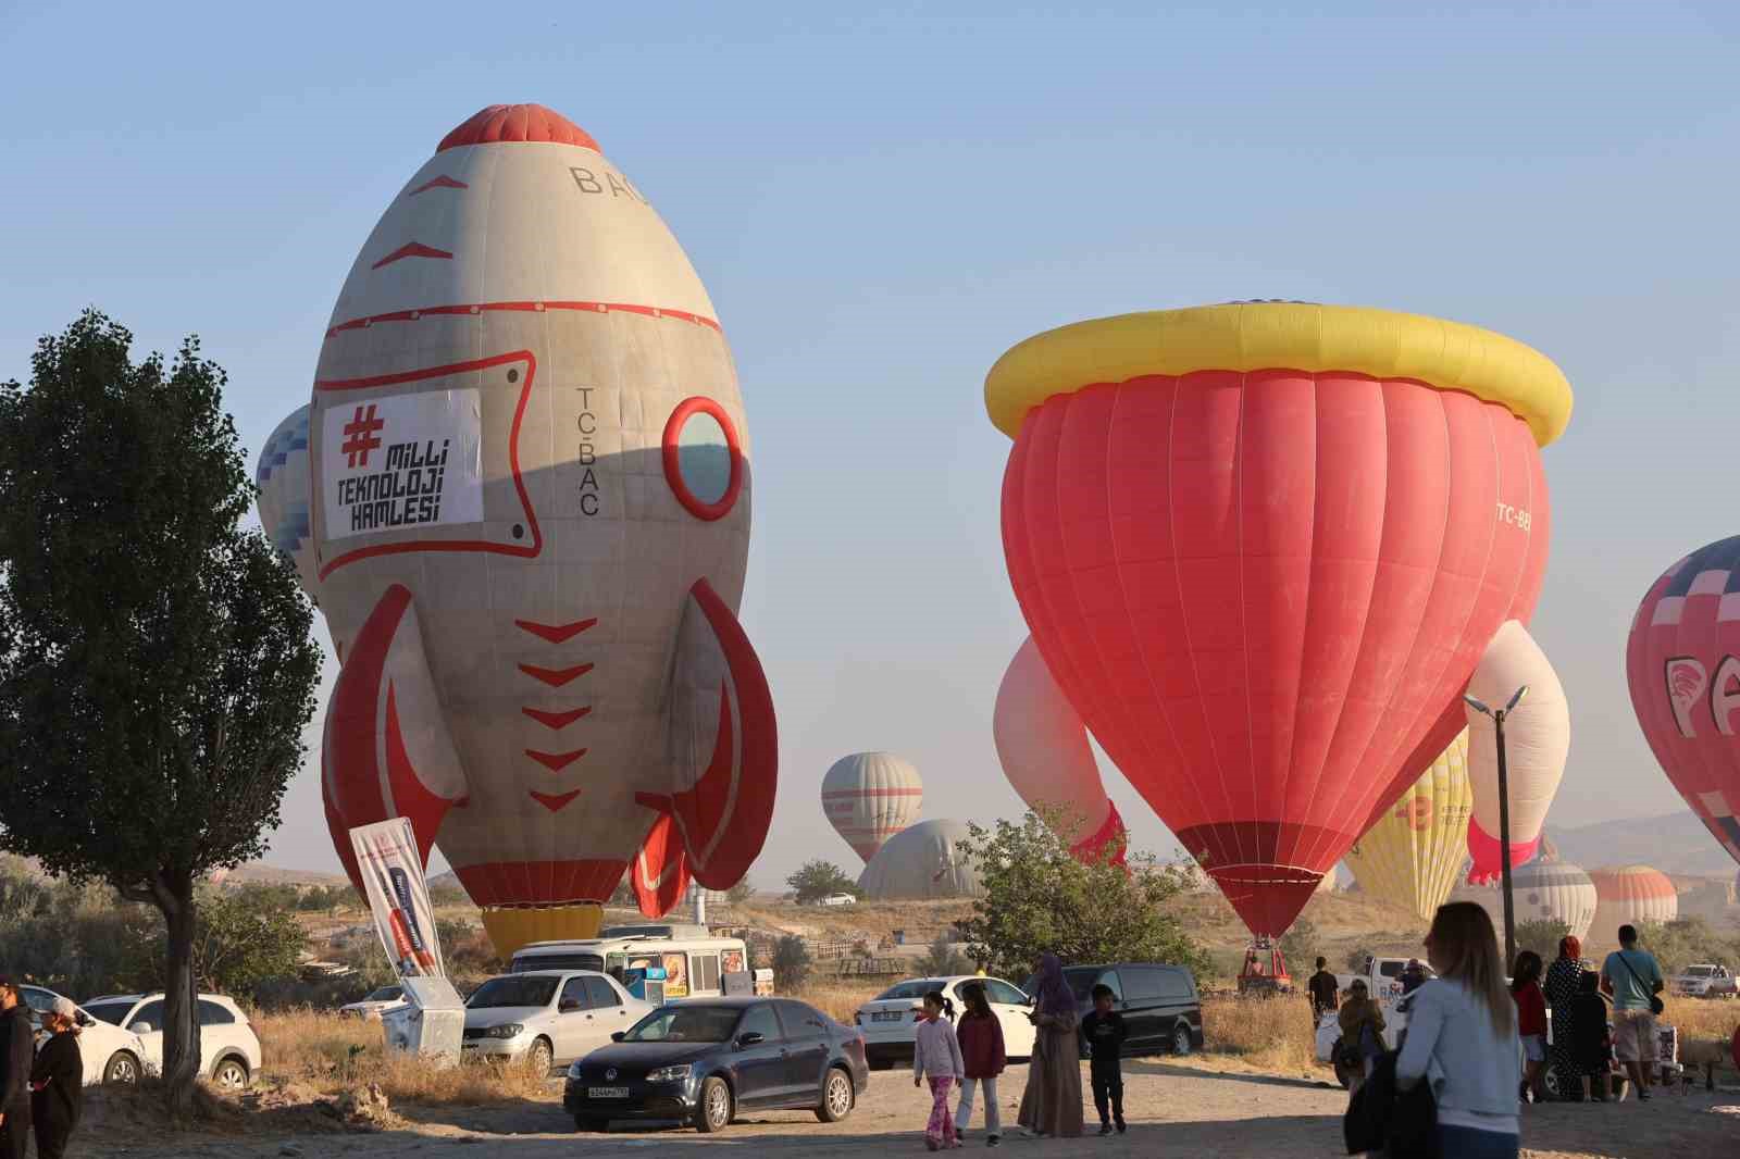
[[[675,823],[698,882],[729,889],[767,839],[780,741],[760,658],[706,580],[689,588],[668,694],[672,792],[637,799]]]

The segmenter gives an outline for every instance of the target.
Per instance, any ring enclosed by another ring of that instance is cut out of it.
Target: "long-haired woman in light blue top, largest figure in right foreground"
[[[1493,919],[1474,901],[1441,905],[1425,950],[1439,976],[1413,992],[1395,1084],[1413,1089],[1432,1069],[1442,1159],[1517,1159],[1522,1044]]]

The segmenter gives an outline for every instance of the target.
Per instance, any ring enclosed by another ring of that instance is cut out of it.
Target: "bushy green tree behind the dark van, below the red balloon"
[[[959,842],[974,860],[985,896],[973,901],[973,917],[957,922],[967,954],[1007,978],[1025,978],[1039,955],[1053,952],[1068,962],[1174,962],[1202,971],[1208,955],[1166,910],[1185,889],[1176,867],[1152,854],[1117,865],[1119,849],[1098,861],[1077,861],[1068,844],[1037,813],[997,821],[992,830],[969,825]]]

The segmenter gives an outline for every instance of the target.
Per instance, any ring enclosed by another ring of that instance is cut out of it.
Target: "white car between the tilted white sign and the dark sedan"
[[[491,978],[465,1001],[465,1058],[567,1067],[654,1006],[592,969],[532,969]]]

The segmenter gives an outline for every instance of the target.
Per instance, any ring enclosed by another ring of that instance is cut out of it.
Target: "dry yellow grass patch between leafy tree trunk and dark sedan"
[[[435,1067],[393,1056],[381,1023],[336,1018],[329,1011],[258,1015],[261,1069],[268,1082],[313,1095],[339,1095],[378,1084],[390,1102],[492,1103],[543,1098],[546,1082],[527,1067],[466,1063]]]

